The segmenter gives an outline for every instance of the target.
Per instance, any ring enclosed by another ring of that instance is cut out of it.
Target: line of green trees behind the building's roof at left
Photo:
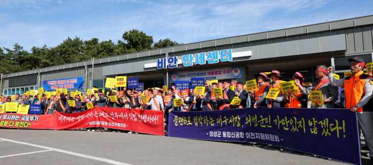
[[[30,51],[24,50],[23,46],[17,43],[13,48],[0,47],[0,73],[6,71],[14,73],[90,60],[89,57],[78,54],[79,52],[99,59],[182,44],[169,38],[154,43],[153,36],[135,29],[125,32],[122,39],[114,44],[111,40],[99,42],[98,38],[83,41],[79,37],[74,39],[68,37],[56,47],[33,46]]]

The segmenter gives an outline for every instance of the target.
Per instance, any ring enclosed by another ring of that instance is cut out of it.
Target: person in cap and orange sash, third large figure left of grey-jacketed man
[[[269,73],[269,76],[272,79],[273,84],[269,87],[269,90],[273,89],[280,89],[281,87],[279,85],[279,82],[284,77],[280,75],[280,72],[278,70],[272,70],[271,73]],[[276,97],[276,99],[266,99],[266,104],[268,108],[272,107],[285,107],[285,99],[283,98],[283,93],[280,91]]]

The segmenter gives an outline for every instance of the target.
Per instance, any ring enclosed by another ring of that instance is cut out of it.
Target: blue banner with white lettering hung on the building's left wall
[[[65,79],[43,80],[43,90],[83,88],[83,76]]]

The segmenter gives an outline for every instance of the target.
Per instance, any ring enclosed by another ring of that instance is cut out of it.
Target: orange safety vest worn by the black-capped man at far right
[[[355,106],[364,97],[364,87],[368,77],[369,75],[364,74],[363,71],[360,71],[355,75],[351,74],[351,76],[344,78],[344,94],[346,96],[346,108],[351,108],[352,106]],[[360,107],[358,109],[358,112],[362,112],[363,107]]]

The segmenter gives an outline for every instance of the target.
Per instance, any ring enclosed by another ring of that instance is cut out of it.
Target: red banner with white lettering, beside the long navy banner
[[[95,107],[78,114],[55,114],[55,129],[104,127],[164,135],[162,111]]]

